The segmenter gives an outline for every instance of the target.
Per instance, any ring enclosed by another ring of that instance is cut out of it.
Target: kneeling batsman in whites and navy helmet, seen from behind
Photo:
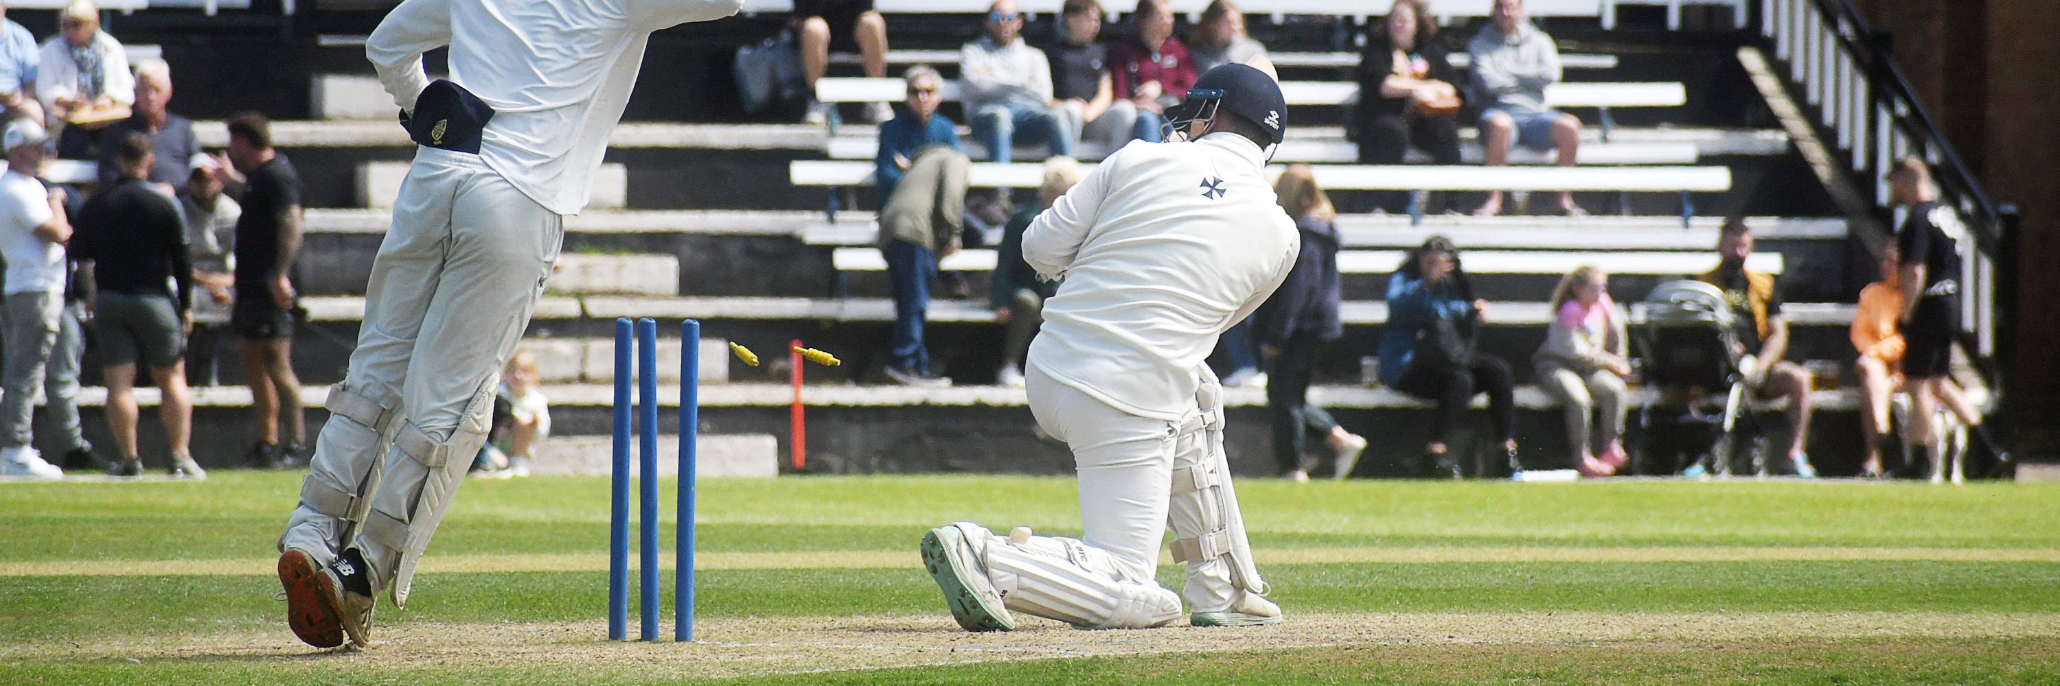
[[[1178,620],[1180,595],[1154,579],[1168,519],[1191,624],[1281,620],[1261,597],[1224,457],[1224,389],[1203,361],[1300,249],[1265,177],[1285,111],[1271,76],[1217,66],[1168,111],[1193,142],[1131,142],[1030,222],[1024,260],[1065,280],[1044,301],[1026,389],[1038,424],[1073,449],[1086,536],[931,529],[923,564],[966,630],[1016,628],[1009,610],[1079,628]]]

